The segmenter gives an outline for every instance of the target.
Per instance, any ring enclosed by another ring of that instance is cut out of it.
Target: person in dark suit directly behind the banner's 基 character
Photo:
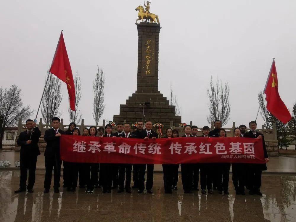
[[[242,137],[241,131],[238,127],[234,128],[234,137],[240,138]],[[231,163],[232,168],[232,182],[235,189],[236,194],[244,193],[244,172],[246,170],[244,163]]]

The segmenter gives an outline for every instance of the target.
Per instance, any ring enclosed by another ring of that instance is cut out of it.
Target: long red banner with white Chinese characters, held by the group
[[[262,139],[101,138],[62,135],[62,160],[78,163],[265,163]]]

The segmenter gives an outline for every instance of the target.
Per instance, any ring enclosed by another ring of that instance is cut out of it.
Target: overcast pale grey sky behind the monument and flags
[[[4,1],[0,8],[0,86],[16,84],[24,104],[37,110],[46,72],[63,29],[73,74],[81,75],[80,109],[92,119],[96,67],[106,78],[103,118],[136,90],[138,36],[135,8],[144,1]],[[296,1],[151,1],[159,16],[159,90],[170,83],[182,107],[182,122],[208,125],[207,88],[211,75],[228,81],[231,118],[246,124],[258,109],[272,58],[279,93],[292,110],[296,100]],[[60,109],[69,123],[67,89]],[[36,114],[34,114],[35,116]],[[33,116],[32,116],[33,118]],[[38,119],[42,118],[38,114]],[[102,118],[102,119],[103,119]],[[100,120],[102,123],[102,120]],[[258,119],[261,126],[263,120]]]

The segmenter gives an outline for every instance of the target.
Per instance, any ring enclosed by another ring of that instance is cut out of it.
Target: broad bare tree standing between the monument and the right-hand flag
[[[217,79],[214,85],[213,77],[210,80],[210,89],[207,89],[207,96],[210,100],[208,104],[210,115],[207,116],[208,123],[220,120],[222,126],[230,119],[229,86],[226,81],[224,86],[221,80]]]

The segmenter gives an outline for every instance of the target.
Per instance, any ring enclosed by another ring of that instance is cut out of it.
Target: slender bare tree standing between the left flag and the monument
[[[94,118],[94,121],[96,122],[96,126],[98,126],[99,120],[102,117],[105,109],[104,86],[105,86],[105,77],[104,77],[103,69],[100,70],[98,66],[96,70],[96,76],[93,81],[93,90],[94,90],[93,118]]]

